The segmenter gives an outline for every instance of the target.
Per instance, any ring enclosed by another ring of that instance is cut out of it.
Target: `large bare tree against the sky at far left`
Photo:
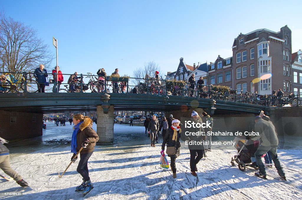
[[[30,71],[39,64],[49,68],[54,56],[36,30],[0,13],[0,70]]]

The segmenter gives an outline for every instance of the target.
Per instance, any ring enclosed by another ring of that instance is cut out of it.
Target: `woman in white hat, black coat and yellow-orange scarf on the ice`
[[[168,131],[165,134],[165,137],[162,141],[162,150],[165,150],[165,145],[167,144],[168,147],[175,147],[176,148],[176,154],[174,155],[168,155],[171,158],[171,170],[173,172],[173,178],[176,178],[176,157],[180,154],[180,134],[182,133],[182,129],[179,127],[180,121],[178,119],[175,119],[172,121],[172,126],[169,127]]]

